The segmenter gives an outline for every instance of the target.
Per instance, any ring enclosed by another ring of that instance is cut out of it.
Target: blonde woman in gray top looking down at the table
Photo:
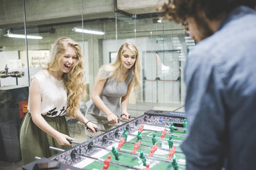
[[[103,130],[113,127],[108,123],[118,123],[118,117],[129,120],[129,95],[131,88],[138,88],[139,84],[138,49],[132,43],[125,42],[118,50],[116,61],[100,68],[92,90],[92,100],[87,102],[87,117]]]

